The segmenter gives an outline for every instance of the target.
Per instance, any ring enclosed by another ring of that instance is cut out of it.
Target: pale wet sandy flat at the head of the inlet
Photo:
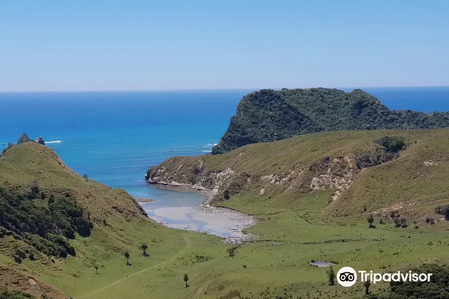
[[[205,200],[200,206],[153,208],[152,203],[141,203],[141,205],[148,217],[168,227],[220,236],[224,243],[236,244],[256,238],[254,235],[242,232],[243,229],[257,223],[255,217],[239,211],[211,206],[210,202],[215,193],[211,190],[201,190],[201,193],[204,194]]]

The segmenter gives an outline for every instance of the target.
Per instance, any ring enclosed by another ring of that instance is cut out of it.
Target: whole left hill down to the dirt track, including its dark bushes
[[[160,253],[139,259],[141,242]],[[83,178],[48,147],[25,142],[0,156],[0,288],[75,297],[168,260],[185,243],[127,192]]]

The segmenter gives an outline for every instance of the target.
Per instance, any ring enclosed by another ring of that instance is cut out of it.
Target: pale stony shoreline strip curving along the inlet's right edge
[[[244,233],[243,230],[257,224],[257,219],[253,215],[249,215],[243,212],[240,212],[235,209],[227,208],[227,207],[216,207],[211,205],[213,197],[218,193],[218,188],[208,189],[203,186],[189,185],[189,184],[178,184],[178,183],[167,183],[167,182],[154,182],[148,181],[150,185],[165,187],[170,189],[178,189],[178,190],[193,190],[199,193],[202,193],[204,196],[203,202],[196,207],[192,207],[194,211],[202,212],[210,215],[220,215],[221,217],[226,217],[231,221],[236,221],[240,223],[238,229],[230,229],[227,228],[229,233],[238,231],[240,236],[238,237],[225,237],[219,236],[222,238],[222,242],[224,244],[242,244],[243,242],[248,242],[258,238],[256,235],[252,235],[249,233]],[[164,224],[167,226],[167,224]]]

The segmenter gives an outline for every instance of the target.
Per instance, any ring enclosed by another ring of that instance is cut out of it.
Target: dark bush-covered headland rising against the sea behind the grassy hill
[[[349,93],[326,88],[262,89],[240,100],[236,115],[212,153],[322,131],[448,126],[449,113],[391,111],[360,89]]]

